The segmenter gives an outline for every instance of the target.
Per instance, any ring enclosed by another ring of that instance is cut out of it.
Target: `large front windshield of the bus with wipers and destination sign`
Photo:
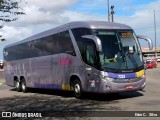
[[[102,68],[112,72],[133,72],[143,67],[143,59],[133,31],[93,30],[102,43]]]

